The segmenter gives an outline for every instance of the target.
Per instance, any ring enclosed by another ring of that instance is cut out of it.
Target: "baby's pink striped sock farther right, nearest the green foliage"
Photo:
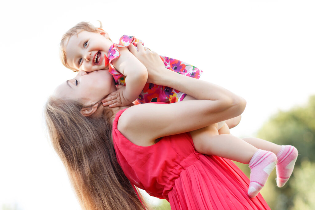
[[[297,159],[297,153],[297,149],[294,146],[281,146],[281,150],[277,154],[278,163],[276,165],[278,187],[283,187],[289,180]]]

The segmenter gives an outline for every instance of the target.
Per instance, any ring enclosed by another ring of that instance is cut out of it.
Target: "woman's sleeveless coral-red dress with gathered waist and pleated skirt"
[[[190,133],[163,137],[154,145],[138,146],[113,123],[117,161],[135,186],[165,198],[174,209],[270,209],[261,194],[247,195],[249,179],[230,160],[198,153]]]

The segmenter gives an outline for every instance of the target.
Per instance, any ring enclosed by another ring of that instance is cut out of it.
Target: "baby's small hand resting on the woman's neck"
[[[103,106],[117,107],[127,106],[132,103],[124,97],[125,86],[118,85],[117,90],[109,94],[105,99],[102,100]]]

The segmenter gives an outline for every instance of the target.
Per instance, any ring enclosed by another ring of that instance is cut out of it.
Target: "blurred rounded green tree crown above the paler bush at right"
[[[315,162],[315,96],[304,107],[280,111],[258,132],[258,137],[279,145],[294,145],[299,151],[297,166],[307,158]]]

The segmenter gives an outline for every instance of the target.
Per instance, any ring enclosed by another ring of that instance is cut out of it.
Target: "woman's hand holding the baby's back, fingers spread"
[[[146,66],[148,71],[148,80],[147,83],[158,84],[158,81],[163,77],[165,71],[170,71],[165,68],[163,61],[160,56],[151,51],[149,48],[143,47],[141,43],[137,43],[137,48],[133,44],[128,46],[129,51],[141,61],[143,65]]]

